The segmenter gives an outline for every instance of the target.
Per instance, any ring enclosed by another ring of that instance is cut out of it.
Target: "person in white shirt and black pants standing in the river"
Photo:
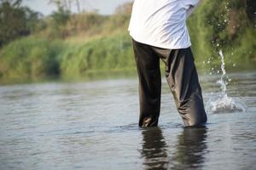
[[[186,20],[199,0],[135,0],[129,31],[137,64],[140,127],[158,125],[160,59],[184,125],[207,122]]]

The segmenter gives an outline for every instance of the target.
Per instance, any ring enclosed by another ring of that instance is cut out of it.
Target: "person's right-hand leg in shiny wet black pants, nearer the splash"
[[[185,126],[201,125],[207,122],[191,49],[172,49],[164,61],[166,79]]]

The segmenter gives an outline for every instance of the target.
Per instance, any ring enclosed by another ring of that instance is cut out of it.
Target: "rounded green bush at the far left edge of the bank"
[[[59,74],[57,55],[61,42],[27,37],[9,43],[0,51],[0,76],[39,78]]]

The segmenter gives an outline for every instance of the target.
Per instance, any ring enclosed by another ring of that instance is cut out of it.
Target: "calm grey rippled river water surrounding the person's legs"
[[[201,75],[206,107],[220,75]],[[137,77],[0,86],[0,169],[256,169],[256,71],[229,74],[244,111],[184,128],[163,78],[159,127],[139,128]]]

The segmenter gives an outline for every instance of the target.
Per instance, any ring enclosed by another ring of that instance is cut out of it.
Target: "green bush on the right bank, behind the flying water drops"
[[[246,66],[256,60],[255,17],[247,4],[256,3],[253,0],[201,3],[188,20],[196,62],[212,58],[212,64],[217,63],[220,49],[228,58],[227,65]]]

